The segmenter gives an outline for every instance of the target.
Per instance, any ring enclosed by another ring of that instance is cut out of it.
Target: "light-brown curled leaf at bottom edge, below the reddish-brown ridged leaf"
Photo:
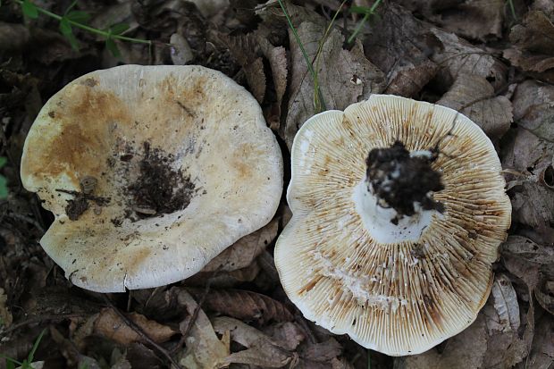
[[[260,365],[279,368],[296,359],[296,354],[280,345],[277,340],[265,335],[248,324],[229,317],[214,318],[214,330],[231,332],[231,340],[247,349],[231,354],[225,363]]]

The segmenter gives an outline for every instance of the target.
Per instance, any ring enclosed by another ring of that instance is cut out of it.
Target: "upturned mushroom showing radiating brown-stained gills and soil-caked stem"
[[[447,107],[373,95],[310,118],[275,246],[290,300],[365,348],[414,355],[483,307],[510,224],[499,158]]]

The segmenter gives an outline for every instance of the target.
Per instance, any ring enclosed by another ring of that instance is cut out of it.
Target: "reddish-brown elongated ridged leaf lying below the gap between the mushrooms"
[[[189,292],[195,298],[203,295],[202,289],[189,289]],[[281,302],[247,290],[210,289],[203,306],[206,310],[260,324],[270,321],[290,322],[294,319]]]

